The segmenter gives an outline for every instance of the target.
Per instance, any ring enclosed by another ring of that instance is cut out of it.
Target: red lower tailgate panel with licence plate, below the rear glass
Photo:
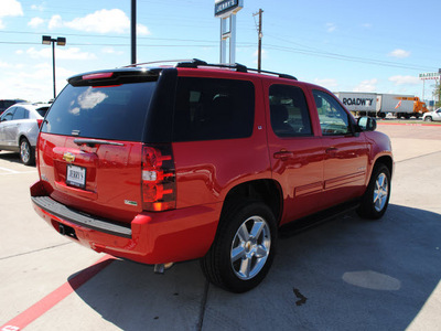
[[[142,210],[141,152],[141,142],[41,134],[40,175],[51,184],[50,195],[55,201],[88,214],[130,222]]]

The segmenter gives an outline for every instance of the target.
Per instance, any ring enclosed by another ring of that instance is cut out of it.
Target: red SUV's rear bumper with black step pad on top
[[[45,194],[40,181],[31,186],[35,212],[57,232],[68,226],[71,239],[98,253],[143,264],[164,264],[204,256],[214,241],[220,203],[159,213],[140,213],[130,224],[85,215]],[[62,226],[60,226],[62,225]],[[64,231],[63,231],[64,234]]]

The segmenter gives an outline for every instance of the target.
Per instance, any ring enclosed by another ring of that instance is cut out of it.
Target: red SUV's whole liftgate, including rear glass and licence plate
[[[119,222],[142,210],[142,139],[157,83],[137,81],[79,82],[56,98],[39,142],[52,199]]]

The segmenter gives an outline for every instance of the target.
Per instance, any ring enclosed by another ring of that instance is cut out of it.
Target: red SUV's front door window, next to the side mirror
[[[349,117],[330,94],[313,90],[323,136],[344,136],[351,134]]]

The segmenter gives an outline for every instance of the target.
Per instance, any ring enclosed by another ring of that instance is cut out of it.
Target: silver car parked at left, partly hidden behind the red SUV
[[[49,104],[15,104],[0,117],[0,150],[20,152],[21,161],[35,162],[35,145]]]

